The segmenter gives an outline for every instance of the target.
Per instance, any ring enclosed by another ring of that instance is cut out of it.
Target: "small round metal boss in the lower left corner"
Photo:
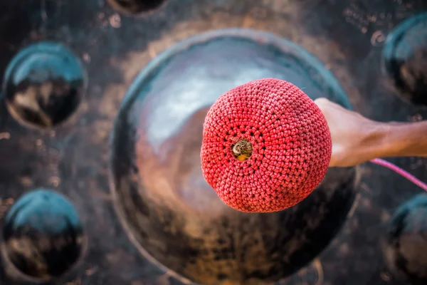
[[[60,280],[85,256],[88,247],[73,204],[45,189],[16,201],[4,218],[1,237],[4,264],[9,265],[11,274],[28,281]]]

